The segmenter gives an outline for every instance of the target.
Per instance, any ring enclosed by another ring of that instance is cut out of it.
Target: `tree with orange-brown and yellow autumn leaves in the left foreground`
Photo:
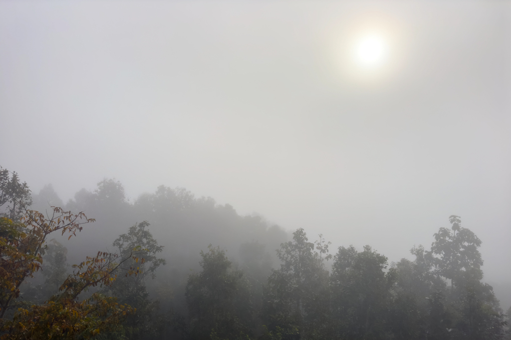
[[[109,286],[117,277],[116,271],[128,260],[144,262],[136,256],[140,247],[128,256],[99,252],[87,257],[53,295],[42,304],[14,309],[19,297],[19,287],[27,278],[33,277],[42,265],[48,247],[48,236],[60,231],[76,236],[85,223],[94,222],[83,213],[64,212],[53,208],[53,215],[45,218],[36,211],[26,210],[15,222],[0,218],[0,337],[5,339],[75,339],[90,338],[105,331],[119,329],[127,315],[135,311],[121,305],[117,299],[93,293],[79,300],[83,292],[96,286]],[[126,275],[138,274],[135,267],[126,268]]]

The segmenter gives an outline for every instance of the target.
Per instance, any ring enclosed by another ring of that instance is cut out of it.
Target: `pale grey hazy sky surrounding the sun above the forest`
[[[456,214],[511,287],[510,109],[509,2],[0,2],[0,165],[64,200],[185,187],[390,260]]]

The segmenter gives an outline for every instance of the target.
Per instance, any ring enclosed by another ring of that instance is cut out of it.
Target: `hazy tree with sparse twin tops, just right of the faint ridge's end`
[[[319,252],[314,251],[315,245]],[[300,334],[305,338],[324,336],[329,314],[329,273],[323,261],[332,257],[326,255],[328,245],[321,235],[316,244],[308,242],[300,228],[293,232],[293,241],[281,244],[277,250],[282,264],[268,277],[262,311],[270,333],[281,329],[286,338],[299,338]]]

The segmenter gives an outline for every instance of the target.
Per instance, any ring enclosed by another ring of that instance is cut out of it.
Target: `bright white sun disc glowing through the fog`
[[[388,55],[388,44],[378,34],[366,34],[357,39],[354,59],[359,66],[375,68],[382,65]]]

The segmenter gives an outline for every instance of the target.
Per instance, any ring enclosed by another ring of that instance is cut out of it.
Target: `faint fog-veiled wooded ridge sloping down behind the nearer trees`
[[[190,270],[198,270],[200,252],[209,245],[227,250],[229,258],[239,266],[259,261],[267,275],[277,264],[275,250],[289,240],[289,232],[270,224],[260,216],[240,216],[233,206],[220,205],[211,197],[196,198],[183,188],[160,186],[152,194],[144,194],[128,202],[119,181],[104,179],[97,189],[80,190],[75,198],[63,203],[51,185],[33,195],[32,209],[47,212],[51,206],[64,210],[85,212],[96,222],[87,225],[80,238],[66,236],[57,241],[73,249],[67,257],[72,263],[90,254],[91,249],[112,249],[112,242],[121,232],[143,221],[158,244],[164,246],[161,254],[167,265],[162,282],[183,285]],[[253,253],[255,252],[255,253]],[[183,287],[179,287],[182,289]]]

